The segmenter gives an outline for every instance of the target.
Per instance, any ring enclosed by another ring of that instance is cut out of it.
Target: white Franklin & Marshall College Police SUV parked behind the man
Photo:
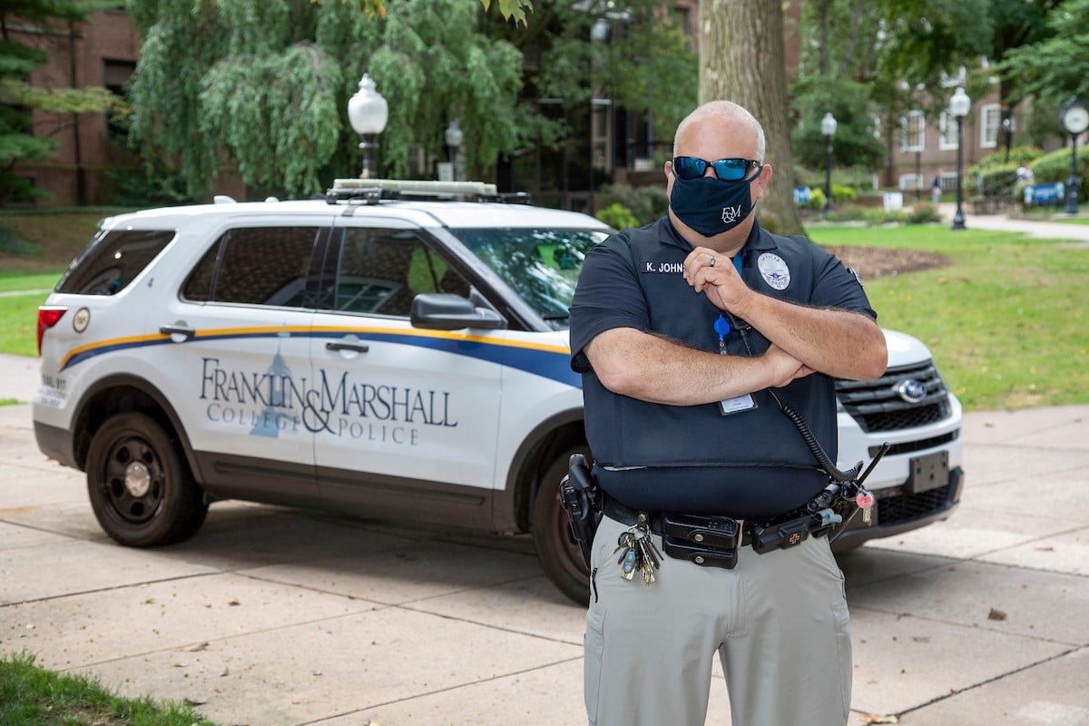
[[[175,542],[238,499],[531,531],[585,602],[558,497],[587,451],[567,308],[611,230],[479,183],[227,201],[103,220],[38,312],[35,434],[87,472],[102,529]],[[840,466],[892,444],[845,546],[959,500],[960,406],[921,343],[886,335],[886,374],[839,385]]]

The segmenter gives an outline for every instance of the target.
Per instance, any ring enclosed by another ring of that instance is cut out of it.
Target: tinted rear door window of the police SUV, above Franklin
[[[307,272],[318,227],[231,230],[211,246],[182,288],[185,299],[308,307]]]

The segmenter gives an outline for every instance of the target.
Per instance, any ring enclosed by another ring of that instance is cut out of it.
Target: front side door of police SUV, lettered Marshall
[[[339,218],[330,250],[311,347],[322,497],[356,514],[487,524],[504,331],[413,328],[415,295],[470,287],[406,221]]]

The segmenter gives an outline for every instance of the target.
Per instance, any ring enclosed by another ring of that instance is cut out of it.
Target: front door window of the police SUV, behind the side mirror
[[[345,231],[333,309],[407,317],[420,293],[468,297],[469,284],[415,232]]]

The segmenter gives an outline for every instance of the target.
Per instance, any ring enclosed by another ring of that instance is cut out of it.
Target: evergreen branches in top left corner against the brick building
[[[13,173],[23,161],[49,159],[57,152],[57,134],[82,113],[102,113],[121,108],[121,99],[106,88],[42,89],[26,82],[35,69],[49,60],[40,47],[20,42],[13,27],[29,29],[41,38],[71,39],[76,24],[112,3],[76,0],[5,0],[0,5],[0,206],[42,195]],[[60,30],[62,35],[57,36]],[[53,124],[45,136],[32,133],[32,111],[48,113]]]

